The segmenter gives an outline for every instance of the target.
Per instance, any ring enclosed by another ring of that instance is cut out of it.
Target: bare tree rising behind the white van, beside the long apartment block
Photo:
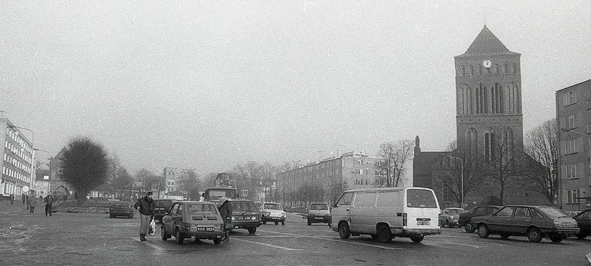
[[[411,139],[403,139],[394,143],[388,141],[379,145],[378,157],[382,160],[378,168],[384,178],[386,187],[401,185],[401,177],[406,172],[406,163],[413,157],[415,143]]]

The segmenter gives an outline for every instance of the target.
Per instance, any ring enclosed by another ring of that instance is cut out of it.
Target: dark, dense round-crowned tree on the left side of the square
[[[103,146],[88,137],[69,141],[61,159],[62,179],[74,187],[78,204],[108,178],[109,158]]]

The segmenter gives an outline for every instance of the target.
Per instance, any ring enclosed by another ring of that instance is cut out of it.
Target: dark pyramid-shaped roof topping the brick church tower
[[[495,36],[490,30],[484,26],[474,42],[470,44],[468,50],[458,57],[470,57],[479,55],[518,55],[509,51],[509,49],[499,41],[499,38]]]

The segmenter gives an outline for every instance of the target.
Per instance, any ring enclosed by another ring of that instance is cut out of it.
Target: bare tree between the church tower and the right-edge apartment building
[[[544,195],[549,204],[554,203],[559,189],[556,130],[556,119],[551,119],[524,136],[524,152],[531,157],[524,160],[524,185]]]

